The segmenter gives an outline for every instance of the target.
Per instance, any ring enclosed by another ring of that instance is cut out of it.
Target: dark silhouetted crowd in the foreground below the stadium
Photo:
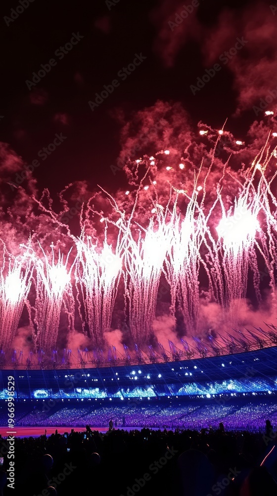
[[[111,419],[110,419],[111,420]],[[114,420],[113,420],[114,422]],[[14,495],[274,496],[277,445],[264,433],[110,429],[15,438]],[[272,426],[267,425],[267,434]],[[273,432],[273,431],[272,431]],[[0,440],[5,453],[6,440]],[[7,455],[0,469],[6,480]],[[5,496],[6,487],[3,488]]]

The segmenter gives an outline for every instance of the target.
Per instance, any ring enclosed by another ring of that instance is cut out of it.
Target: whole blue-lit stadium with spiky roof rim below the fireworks
[[[53,353],[56,361],[45,369],[28,358],[12,369],[2,362],[0,423],[6,424],[8,377],[14,377],[15,427],[26,428],[25,434],[34,427],[51,432],[86,425],[105,432],[110,419],[128,430],[217,429],[223,423],[227,430],[263,432],[268,418],[277,426],[277,346],[259,344],[251,350],[249,340],[248,351],[228,355],[190,350],[186,359],[188,351],[173,343],[174,355],[159,357],[152,349],[148,357],[129,360],[117,357],[114,347],[108,363],[93,360],[88,350],[79,352],[77,364],[59,362]]]

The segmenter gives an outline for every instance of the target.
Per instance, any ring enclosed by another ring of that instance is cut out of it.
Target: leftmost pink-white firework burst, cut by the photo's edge
[[[1,349],[10,349],[12,345],[30,291],[32,272],[33,268],[28,256],[11,257],[4,248],[3,263],[0,268]]]

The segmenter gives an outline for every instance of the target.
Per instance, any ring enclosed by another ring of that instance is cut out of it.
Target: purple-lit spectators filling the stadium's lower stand
[[[81,427],[89,423],[100,428],[106,427],[112,417],[118,428],[200,429],[203,426],[215,428],[224,422],[229,430],[258,431],[264,427],[265,416],[270,416],[277,426],[277,401],[269,396],[251,400],[229,396],[225,400],[216,397],[149,403],[138,399],[111,406],[107,406],[107,402],[105,405],[95,403],[70,401],[66,406],[62,401],[49,403],[50,406],[42,401],[21,403],[16,408],[16,425]]]

